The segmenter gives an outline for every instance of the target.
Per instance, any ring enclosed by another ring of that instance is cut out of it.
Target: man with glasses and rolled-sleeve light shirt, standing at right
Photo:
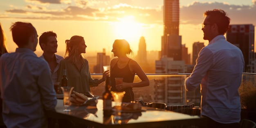
[[[225,11],[209,10],[204,16],[202,31],[209,44],[199,52],[194,70],[185,80],[185,88],[192,91],[201,85],[201,117],[208,119],[208,128],[239,128],[238,88],[245,65],[243,54],[224,36],[230,22]]]

